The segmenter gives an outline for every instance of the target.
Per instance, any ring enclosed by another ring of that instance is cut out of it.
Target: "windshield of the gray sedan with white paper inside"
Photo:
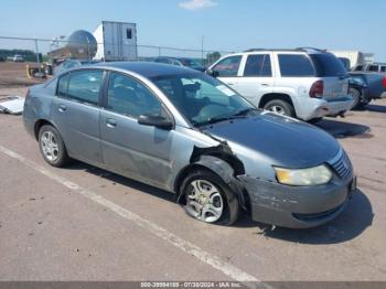
[[[256,110],[234,90],[205,74],[167,75],[152,81],[193,126],[243,117]]]

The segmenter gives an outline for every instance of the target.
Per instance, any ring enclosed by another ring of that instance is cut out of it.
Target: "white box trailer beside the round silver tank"
[[[94,36],[98,43],[94,60],[137,60],[136,23],[103,21],[95,30]]]

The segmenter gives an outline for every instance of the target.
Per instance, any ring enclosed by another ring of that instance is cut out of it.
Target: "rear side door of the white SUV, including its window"
[[[272,92],[275,83],[271,53],[254,53],[244,56],[242,77],[238,78],[235,89],[258,106],[262,95]]]

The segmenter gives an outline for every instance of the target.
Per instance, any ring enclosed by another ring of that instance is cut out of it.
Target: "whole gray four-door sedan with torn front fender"
[[[200,72],[156,63],[78,67],[34,86],[24,124],[44,159],[76,159],[176,194],[186,213],[232,224],[239,211],[312,227],[345,207],[355,178],[326,132],[258,110]]]

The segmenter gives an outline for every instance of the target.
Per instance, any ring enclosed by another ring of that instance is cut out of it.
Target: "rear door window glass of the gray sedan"
[[[97,105],[103,76],[103,71],[72,72],[69,73],[67,93],[63,96],[81,103]]]

